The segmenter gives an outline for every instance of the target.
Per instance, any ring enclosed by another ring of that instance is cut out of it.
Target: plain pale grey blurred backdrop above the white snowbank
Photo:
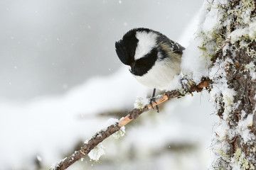
[[[178,41],[203,0],[0,1],[0,94],[62,94],[121,66],[114,42],[145,27]]]

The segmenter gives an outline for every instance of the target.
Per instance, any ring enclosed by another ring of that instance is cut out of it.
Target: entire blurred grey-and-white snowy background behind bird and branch
[[[122,66],[114,42],[131,28],[186,47],[198,1],[0,1],[0,167],[48,169],[137,96],[151,95]],[[167,102],[103,142],[100,162],[70,169],[206,169],[215,115],[207,93]],[[78,148],[75,148],[78,147]]]

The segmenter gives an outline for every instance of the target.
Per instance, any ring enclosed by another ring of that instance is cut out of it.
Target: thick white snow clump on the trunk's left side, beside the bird
[[[216,5],[216,3],[211,5]],[[219,19],[218,9],[211,8],[208,11],[208,2],[205,1],[201,8],[198,30],[190,40],[190,45],[183,51],[181,71],[196,83],[200,83],[203,77],[208,77],[208,68],[212,64],[210,55],[214,54],[215,44],[206,43],[205,39],[212,37],[211,31],[218,25]]]

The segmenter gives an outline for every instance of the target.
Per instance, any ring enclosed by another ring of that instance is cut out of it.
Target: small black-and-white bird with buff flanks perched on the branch
[[[176,74],[181,72],[181,57],[185,47],[170,40],[166,35],[149,28],[134,28],[115,42],[115,51],[119,60],[129,66],[129,72],[144,86],[166,90]],[[159,108],[156,105],[156,111]]]

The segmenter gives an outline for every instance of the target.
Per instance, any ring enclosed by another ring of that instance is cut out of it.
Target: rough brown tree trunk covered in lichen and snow
[[[210,169],[256,169],[256,2],[208,4],[208,13],[218,9],[218,24],[204,45],[214,45],[210,93],[220,118]]]

